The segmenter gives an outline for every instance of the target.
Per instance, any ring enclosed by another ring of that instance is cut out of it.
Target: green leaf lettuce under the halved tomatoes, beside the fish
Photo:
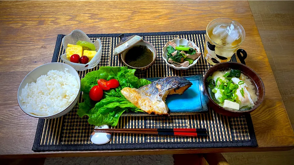
[[[134,76],[135,69],[127,67],[100,67],[97,71],[91,71],[81,79],[81,91],[83,91],[83,102],[78,103],[77,114],[80,117],[89,116],[88,122],[93,125],[107,124],[116,126],[119,117],[123,112],[143,112],[130,101],[123,97],[120,90],[124,87],[139,88],[150,84],[146,79],[139,79]],[[89,97],[89,91],[97,84],[98,79],[116,79],[119,86],[115,89],[103,91],[102,100],[92,101]]]

